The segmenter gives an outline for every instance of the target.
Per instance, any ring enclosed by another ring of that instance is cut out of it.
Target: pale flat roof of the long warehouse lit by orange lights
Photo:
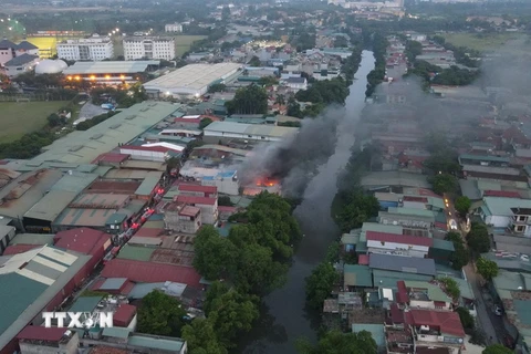
[[[149,65],[159,65],[160,61],[115,61],[115,62],[75,62],[63,71],[64,75],[83,74],[136,74],[147,70]]]

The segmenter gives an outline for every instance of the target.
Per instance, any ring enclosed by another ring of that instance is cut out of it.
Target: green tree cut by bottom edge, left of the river
[[[218,341],[212,322],[209,319],[196,319],[183,327],[183,339],[190,354],[227,354],[228,351]]]

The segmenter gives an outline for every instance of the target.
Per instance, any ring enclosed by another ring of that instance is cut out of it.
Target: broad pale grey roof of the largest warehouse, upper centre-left
[[[144,84],[146,90],[201,90],[217,80],[227,76],[241,69],[236,63],[218,63],[218,64],[189,64],[177,69],[166,75],[148,81]]]

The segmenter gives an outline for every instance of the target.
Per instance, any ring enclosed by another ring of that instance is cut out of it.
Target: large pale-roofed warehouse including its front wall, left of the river
[[[190,64],[144,84],[149,96],[199,97],[217,83],[235,80],[242,72],[237,63]]]

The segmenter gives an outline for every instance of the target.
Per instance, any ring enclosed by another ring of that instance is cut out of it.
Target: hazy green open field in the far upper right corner
[[[503,46],[508,42],[525,38],[522,33],[447,33],[444,34],[447,42],[456,46],[467,46],[478,51],[491,51]]]

